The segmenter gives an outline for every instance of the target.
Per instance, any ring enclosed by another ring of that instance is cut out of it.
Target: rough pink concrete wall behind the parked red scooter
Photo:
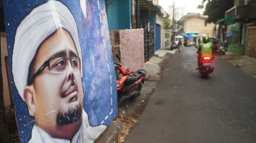
[[[132,71],[144,69],[144,30],[113,30],[109,34],[113,55],[119,49],[121,63],[126,68]]]

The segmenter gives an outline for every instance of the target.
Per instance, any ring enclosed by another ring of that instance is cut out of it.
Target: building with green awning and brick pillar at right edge
[[[256,0],[234,0],[234,7],[225,12],[225,18],[216,22],[216,37],[225,45],[228,55],[256,57]]]

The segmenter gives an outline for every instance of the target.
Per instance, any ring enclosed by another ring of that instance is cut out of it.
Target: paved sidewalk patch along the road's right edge
[[[256,78],[256,58],[248,57],[248,56],[240,56],[240,57],[222,56],[220,57],[220,59],[225,59],[227,63],[240,68],[240,70]]]

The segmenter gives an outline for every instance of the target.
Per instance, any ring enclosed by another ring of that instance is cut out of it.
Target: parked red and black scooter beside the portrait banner
[[[120,61],[120,56],[116,54],[117,59]],[[117,100],[121,102],[127,99],[134,99],[140,96],[142,84],[145,82],[147,71],[138,70],[131,71],[126,69],[120,63],[114,63],[116,70],[116,86],[117,86]],[[127,104],[125,108],[128,108]]]

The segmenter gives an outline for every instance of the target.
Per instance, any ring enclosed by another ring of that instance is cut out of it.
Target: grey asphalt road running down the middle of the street
[[[171,57],[125,143],[256,143],[256,79],[217,58],[204,79],[195,53]]]

